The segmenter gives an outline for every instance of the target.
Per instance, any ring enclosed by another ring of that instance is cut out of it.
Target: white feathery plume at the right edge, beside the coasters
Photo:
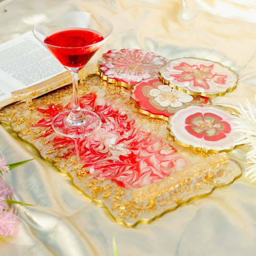
[[[248,100],[244,104],[247,109],[239,104],[240,110],[238,111],[240,115],[234,121],[237,124],[234,130],[241,133],[241,137],[236,141],[251,146],[245,156],[248,163],[252,165],[247,168],[248,171],[245,172],[245,177],[250,175],[251,182],[254,182],[256,181],[256,106]]]

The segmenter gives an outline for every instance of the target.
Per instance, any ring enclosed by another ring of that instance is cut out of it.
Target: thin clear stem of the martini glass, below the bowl
[[[81,111],[79,98],[78,98],[78,72],[71,71],[72,83],[73,83],[73,101],[72,101],[72,111],[69,114],[69,119],[71,122],[81,122],[84,120],[84,114]]]

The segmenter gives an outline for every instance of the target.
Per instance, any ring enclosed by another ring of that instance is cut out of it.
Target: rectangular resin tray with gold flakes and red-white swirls
[[[127,227],[149,223],[181,204],[242,174],[226,153],[207,155],[170,140],[167,122],[138,112],[130,92],[92,75],[79,85],[81,107],[97,112],[102,126],[83,139],[61,137],[55,114],[70,107],[72,86],[0,110],[19,137],[67,173],[73,184],[110,218]]]

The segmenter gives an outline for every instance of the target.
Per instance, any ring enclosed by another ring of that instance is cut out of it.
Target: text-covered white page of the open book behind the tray
[[[67,71],[32,31],[0,44],[0,60],[0,77],[13,90],[36,85]]]

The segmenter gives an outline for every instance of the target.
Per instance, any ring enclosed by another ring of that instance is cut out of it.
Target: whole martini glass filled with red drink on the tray
[[[34,26],[35,37],[72,74],[72,108],[60,112],[52,121],[52,128],[62,136],[84,137],[94,133],[101,125],[96,113],[80,108],[78,71],[110,37],[111,32],[112,25],[108,20],[89,12],[54,14]]]

